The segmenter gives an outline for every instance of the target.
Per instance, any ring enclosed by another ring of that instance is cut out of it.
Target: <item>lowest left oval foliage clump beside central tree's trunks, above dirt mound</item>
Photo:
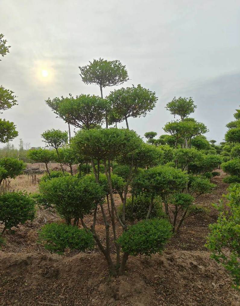
[[[51,253],[63,254],[66,248],[85,251],[93,248],[94,239],[91,232],[65,223],[44,225],[39,232],[39,243]]]

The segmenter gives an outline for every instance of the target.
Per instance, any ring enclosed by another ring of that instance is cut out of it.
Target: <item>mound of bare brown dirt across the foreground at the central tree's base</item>
[[[237,306],[223,267],[208,252],[130,257],[124,276],[109,275],[97,253],[73,257],[0,252],[0,305]]]

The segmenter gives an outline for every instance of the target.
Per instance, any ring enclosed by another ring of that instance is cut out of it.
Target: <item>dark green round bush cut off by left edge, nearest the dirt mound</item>
[[[3,232],[13,226],[33,220],[35,203],[25,192],[6,192],[0,195],[0,224],[4,224]]]

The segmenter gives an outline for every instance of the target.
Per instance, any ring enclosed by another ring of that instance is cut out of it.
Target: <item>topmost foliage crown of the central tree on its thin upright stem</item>
[[[88,65],[79,66],[78,68],[85,84],[97,84],[100,87],[101,98],[103,98],[102,88],[120,85],[129,80],[126,66],[122,65],[118,60],[108,61],[99,58],[99,60],[94,59]],[[107,128],[109,110],[109,108],[105,109]]]

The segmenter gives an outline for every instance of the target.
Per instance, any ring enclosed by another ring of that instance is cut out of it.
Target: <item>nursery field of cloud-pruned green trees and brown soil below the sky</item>
[[[129,118],[147,116],[156,92],[104,97],[130,80],[126,66],[78,68],[101,96],[46,99],[65,131],[16,149],[17,126],[0,119],[0,306],[239,306],[240,110],[217,144],[189,117],[192,97],[174,97],[172,120],[144,138]],[[16,98],[1,85],[0,113]]]

